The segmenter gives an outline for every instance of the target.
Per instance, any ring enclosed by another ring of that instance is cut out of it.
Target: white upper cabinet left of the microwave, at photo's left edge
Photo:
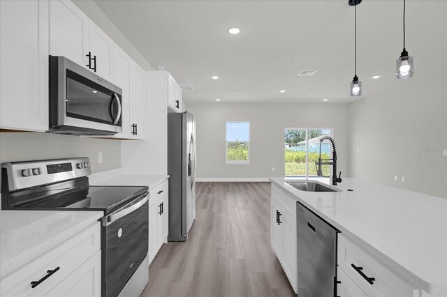
[[[0,1],[0,128],[48,129],[48,1]]]

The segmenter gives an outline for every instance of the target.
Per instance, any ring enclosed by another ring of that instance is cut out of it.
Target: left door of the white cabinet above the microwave
[[[50,1],[50,54],[88,69],[89,19],[71,1]]]

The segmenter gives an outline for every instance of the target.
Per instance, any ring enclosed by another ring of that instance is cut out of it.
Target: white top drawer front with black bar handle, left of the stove
[[[95,252],[101,250],[101,225],[94,225],[76,234],[61,245],[31,260],[15,273],[1,280],[1,296],[44,296],[50,289],[70,275]],[[50,277],[31,288],[31,282],[41,280],[48,273]]]

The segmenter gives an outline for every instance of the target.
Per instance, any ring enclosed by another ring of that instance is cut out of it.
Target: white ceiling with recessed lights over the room
[[[193,85],[194,91],[183,92],[187,103],[216,98],[346,103],[380,96],[396,84],[402,0],[364,0],[357,6],[361,98],[349,96],[354,8],[347,0],[95,3],[154,68],[164,66],[179,84]],[[406,50],[414,56],[414,82],[416,75],[436,75],[439,61],[434,57],[445,61],[446,15],[447,1],[406,2]],[[231,27],[242,31],[233,36]],[[317,72],[298,77],[302,70]]]

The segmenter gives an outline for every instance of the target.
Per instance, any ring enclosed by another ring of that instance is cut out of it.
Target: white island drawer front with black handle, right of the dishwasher
[[[410,284],[395,275],[395,273],[383,266],[383,264],[365,250],[358,247],[358,245],[351,242],[343,234],[339,234],[338,236],[337,258],[339,268],[362,291],[367,292],[370,289],[374,289],[374,291],[383,297],[419,296],[417,289],[411,287]],[[353,265],[357,267],[357,270]],[[362,269],[359,270],[358,267]],[[375,280],[372,280],[373,283],[370,284],[366,280],[366,277],[372,277]]]

